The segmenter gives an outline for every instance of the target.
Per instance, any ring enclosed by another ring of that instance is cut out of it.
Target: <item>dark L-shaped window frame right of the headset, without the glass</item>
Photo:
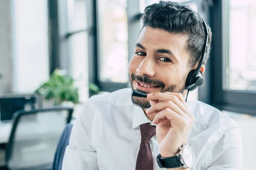
[[[211,26],[214,37],[212,39],[212,92],[211,105],[219,110],[246,113],[256,116],[256,91],[238,91],[223,89],[225,83],[225,65],[228,51],[223,39],[224,26],[223,12],[227,6],[221,0],[215,0],[211,11]],[[220,67],[221,65],[221,67]],[[221,77],[221,79],[220,79]],[[215,85],[214,85],[215,84]]]

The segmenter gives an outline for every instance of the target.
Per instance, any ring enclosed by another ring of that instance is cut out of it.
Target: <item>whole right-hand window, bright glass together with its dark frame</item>
[[[211,8],[212,105],[256,115],[256,3],[217,0]]]

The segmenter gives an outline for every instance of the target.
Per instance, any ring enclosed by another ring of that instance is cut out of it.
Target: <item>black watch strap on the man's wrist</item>
[[[168,158],[162,158],[161,155],[159,154],[157,156],[157,164],[159,165],[160,168],[174,168],[183,166],[180,163],[179,156],[177,155]]]

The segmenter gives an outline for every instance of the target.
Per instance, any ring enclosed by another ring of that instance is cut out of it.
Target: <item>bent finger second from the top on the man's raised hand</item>
[[[188,116],[186,113],[184,113],[174,102],[172,101],[165,101],[165,102],[160,102],[152,106],[151,108],[146,110],[146,113],[148,115],[151,115],[152,113],[155,112],[160,112],[166,108],[172,109],[172,111],[175,111],[178,113],[180,116]]]

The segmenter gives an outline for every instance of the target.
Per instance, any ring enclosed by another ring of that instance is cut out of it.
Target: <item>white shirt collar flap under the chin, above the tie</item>
[[[151,120],[145,115],[142,108],[139,106],[134,105],[134,113],[133,113],[133,120],[132,120],[132,128],[136,128],[144,123],[150,123],[151,125],[155,126]]]

